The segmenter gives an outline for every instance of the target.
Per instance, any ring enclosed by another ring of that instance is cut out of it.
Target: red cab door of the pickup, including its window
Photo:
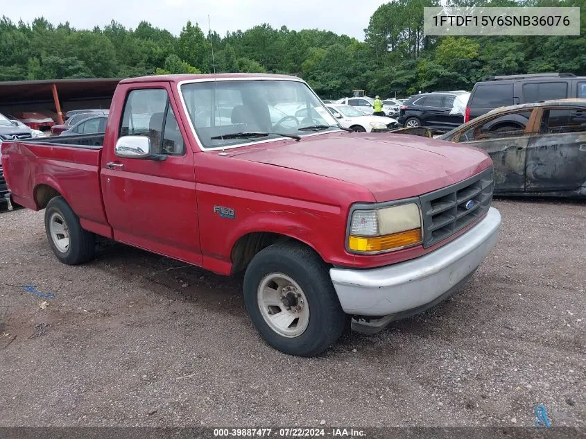
[[[137,88],[137,86],[139,86]],[[122,118],[112,120],[101,183],[117,241],[201,265],[195,167],[169,83],[122,84]],[[118,157],[119,137],[146,136],[166,160]]]

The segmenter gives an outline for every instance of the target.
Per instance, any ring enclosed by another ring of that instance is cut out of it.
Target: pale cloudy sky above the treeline
[[[226,31],[245,31],[268,23],[274,28],[290,30],[318,28],[364,40],[364,29],[382,0],[0,0],[0,15],[12,21],[32,21],[43,16],[53,24],[69,21],[75,28],[103,27],[112,19],[123,26],[136,28],[149,21],[179,35],[191,20],[207,31],[209,15],[212,29],[220,35]]]

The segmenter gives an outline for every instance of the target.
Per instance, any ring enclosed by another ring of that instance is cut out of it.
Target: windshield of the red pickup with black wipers
[[[271,137],[232,137],[239,132],[295,136],[339,130],[311,89],[295,80],[218,80],[186,83],[181,93],[204,148],[237,146]],[[308,129],[309,127],[309,129]]]

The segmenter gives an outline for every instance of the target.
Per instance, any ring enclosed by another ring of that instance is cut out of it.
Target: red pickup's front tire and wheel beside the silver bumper
[[[327,350],[349,318],[327,266],[300,243],[276,243],[257,253],[244,275],[244,301],[261,337],[296,356]]]

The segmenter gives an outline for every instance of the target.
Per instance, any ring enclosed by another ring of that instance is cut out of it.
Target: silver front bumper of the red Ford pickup
[[[331,268],[342,309],[359,316],[389,316],[447,297],[490,253],[500,225],[501,214],[491,207],[479,223],[427,255],[381,268]]]

